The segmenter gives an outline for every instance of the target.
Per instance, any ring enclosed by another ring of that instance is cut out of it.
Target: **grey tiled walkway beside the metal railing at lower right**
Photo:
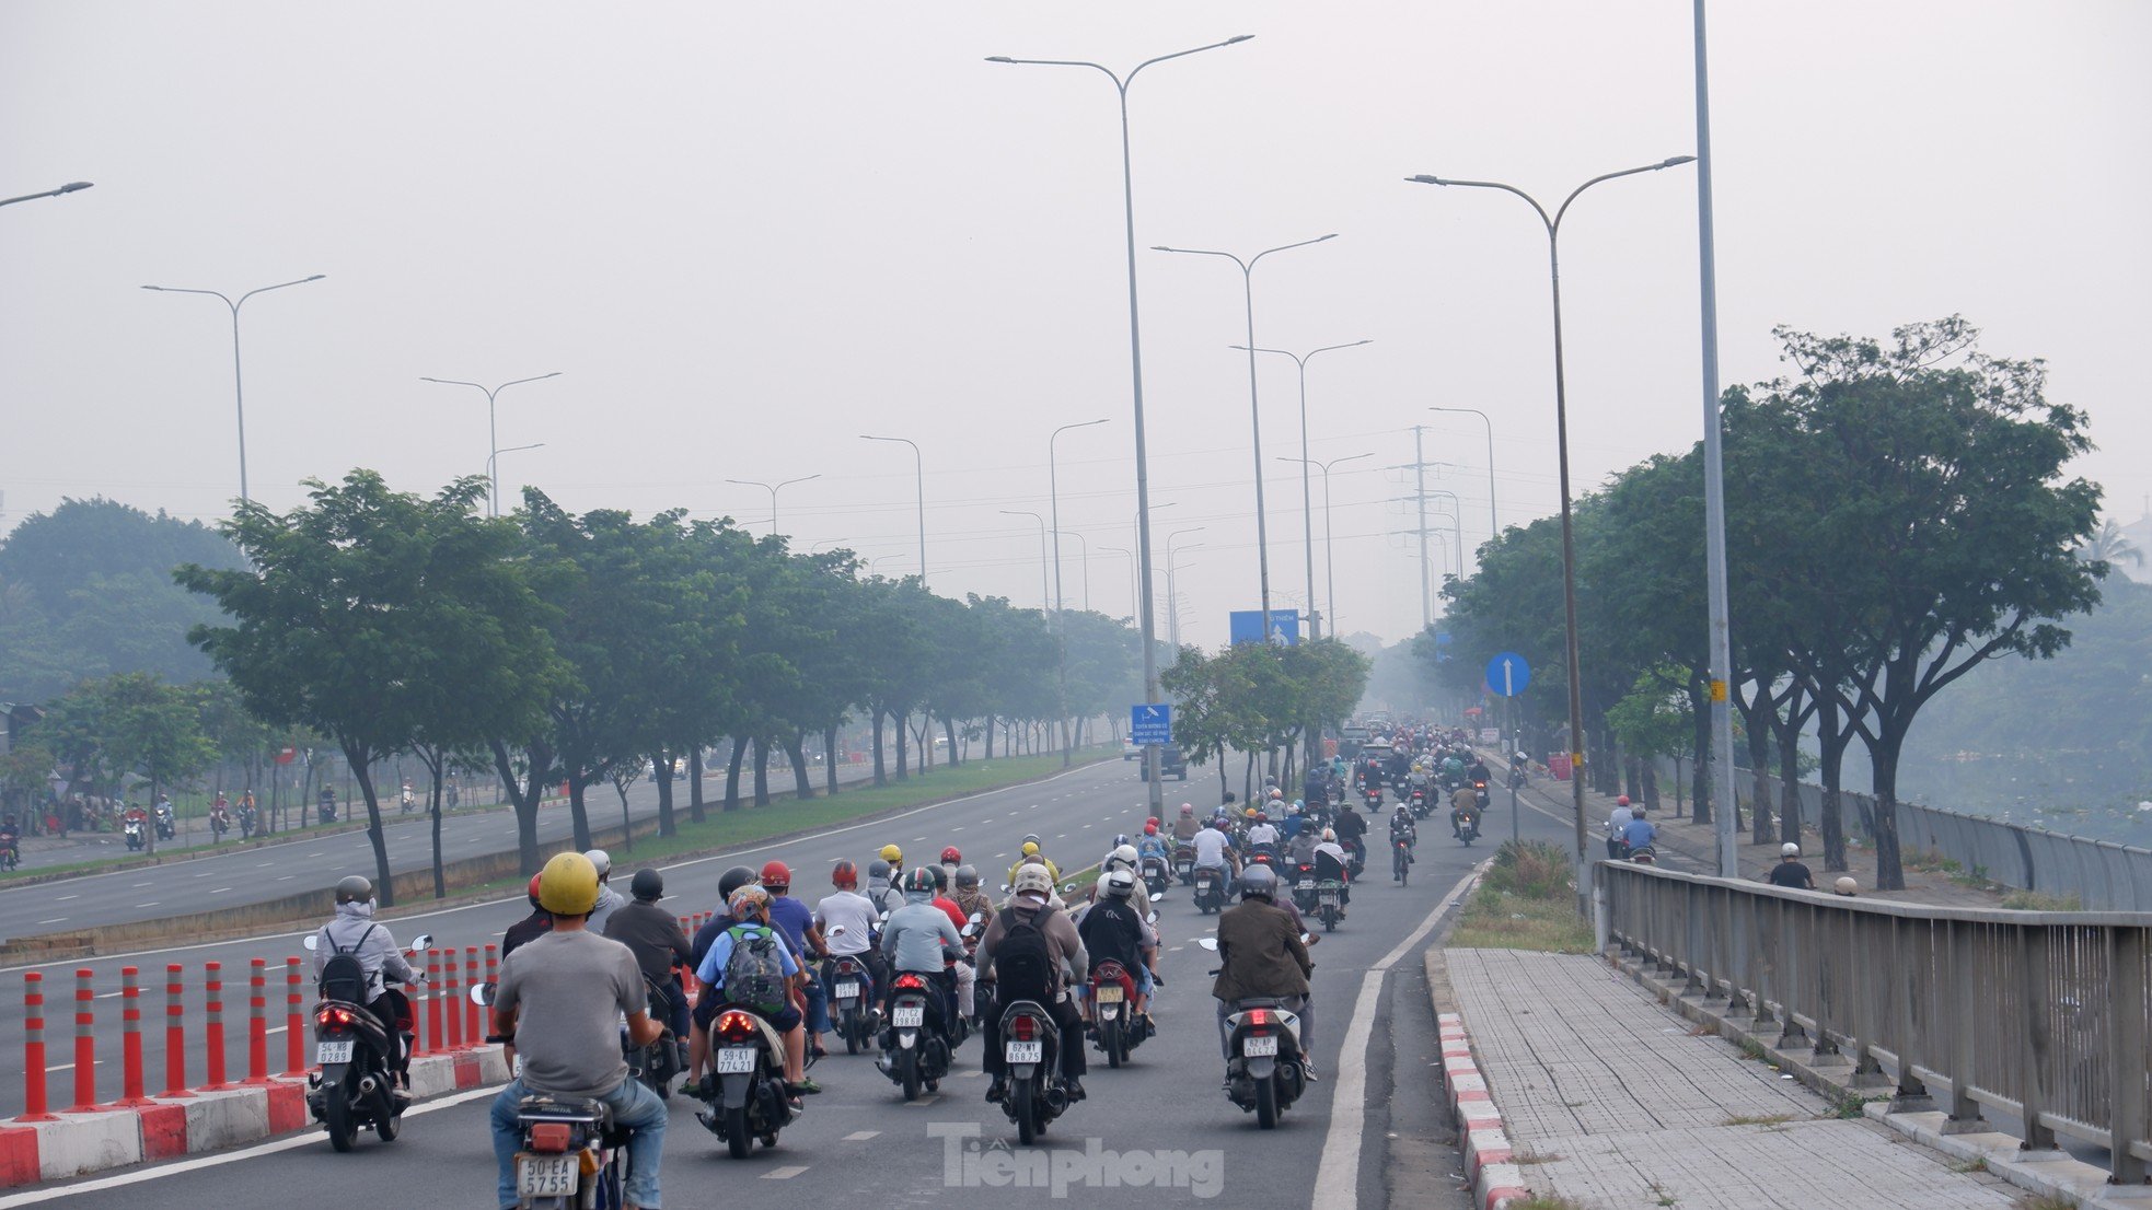
[[[1590,1210],[2016,1206],[2016,1191],[1743,1060],[1599,959],[1450,950],[1450,986],[1534,1193]]]

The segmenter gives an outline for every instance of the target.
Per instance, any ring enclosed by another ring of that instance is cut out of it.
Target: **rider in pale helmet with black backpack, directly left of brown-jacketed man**
[[[1067,980],[1089,974],[1091,961],[1067,913],[1048,903],[1054,881],[1044,866],[1020,866],[1009,888],[1014,892],[1009,903],[979,937],[979,980],[996,984],[994,1004],[981,1006],[986,1014],[986,1053],[981,1057],[986,1075],[992,1077],[986,1098],[1001,1100],[1009,1094],[1007,1057],[1001,1049],[1001,1008],[1031,999],[1042,1004],[1061,1029],[1061,1087],[1070,1100],[1082,1100],[1082,1017],[1067,999]],[[1003,941],[1009,941],[1009,963],[996,965],[994,950]],[[1029,969],[1037,950],[1035,941],[1044,943],[1044,971]]]

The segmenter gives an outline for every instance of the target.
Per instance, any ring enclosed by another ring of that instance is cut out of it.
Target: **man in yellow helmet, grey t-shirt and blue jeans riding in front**
[[[659,1163],[665,1154],[665,1103],[628,1077],[620,1057],[620,1019],[628,1042],[648,1047],[663,1027],[650,1019],[635,954],[590,931],[598,905],[598,870],[581,853],[560,853],[538,873],[538,903],[553,928],[514,956],[501,959],[493,993],[493,1034],[521,1075],[493,1098],[493,1158],[499,1165],[495,1204],[516,1204],[516,1105],[525,1094],[564,1100],[596,1098],[628,1130],[631,1208],[661,1204]]]

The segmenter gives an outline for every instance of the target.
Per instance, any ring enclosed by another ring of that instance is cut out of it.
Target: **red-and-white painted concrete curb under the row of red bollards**
[[[411,1060],[413,1100],[467,1087],[508,1083],[499,1047]],[[151,1098],[146,1105],[88,1113],[56,1113],[52,1122],[0,1124],[0,1189],[69,1180],[200,1152],[314,1130],[306,1079],[273,1077],[267,1085]]]

